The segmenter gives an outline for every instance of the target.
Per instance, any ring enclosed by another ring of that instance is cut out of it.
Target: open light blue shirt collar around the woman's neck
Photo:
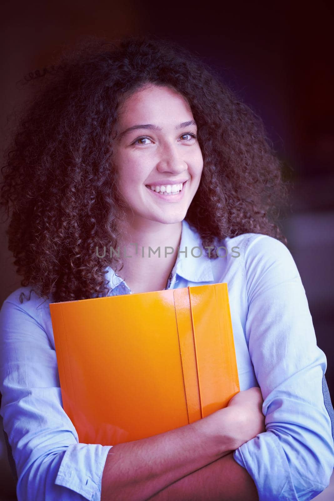
[[[194,248],[199,247],[199,248]],[[184,251],[186,249],[186,255]],[[199,256],[200,250],[202,255],[198,258],[193,256]],[[188,282],[213,282],[212,268],[210,259],[206,256],[205,249],[202,247],[201,239],[196,230],[192,229],[188,222],[182,220],[181,229],[181,240],[179,244],[179,256],[176,258],[172,274],[176,273]],[[193,252],[193,256],[191,254]],[[177,253],[177,248],[174,249]],[[111,284],[111,288],[115,289],[118,286],[120,289],[124,289],[127,292],[126,284],[121,277],[118,277],[111,267],[107,268],[107,280]]]

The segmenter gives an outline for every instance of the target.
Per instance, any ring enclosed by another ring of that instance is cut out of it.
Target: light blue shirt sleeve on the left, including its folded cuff
[[[0,412],[17,499],[98,501],[112,445],[78,443],[62,408],[55,351],[28,303],[7,298],[0,310]]]

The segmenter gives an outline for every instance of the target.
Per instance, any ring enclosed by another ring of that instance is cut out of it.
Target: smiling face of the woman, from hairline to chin
[[[127,220],[182,221],[203,168],[189,105],[175,91],[150,85],[124,101],[117,123],[113,163]]]

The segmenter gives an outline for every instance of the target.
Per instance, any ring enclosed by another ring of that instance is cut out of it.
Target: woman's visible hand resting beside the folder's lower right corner
[[[232,410],[235,419],[235,448],[265,431],[262,403],[261,390],[257,387],[239,391],[228,402],[227,408]]]

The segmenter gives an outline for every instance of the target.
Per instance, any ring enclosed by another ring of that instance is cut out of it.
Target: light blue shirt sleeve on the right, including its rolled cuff
[[[266,431],[233,456],[253,478],[259,501],[307,501],[328,486],[334,466],[322,393],[326,358],[316,345],[305,291],[287,247],[270,236],[252,235],[244,266],[245,336]]]

